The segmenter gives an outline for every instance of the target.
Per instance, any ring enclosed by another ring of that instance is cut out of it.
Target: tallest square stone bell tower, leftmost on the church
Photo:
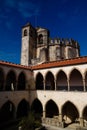
[[[21,64],[28,66],[36,57],[36,30],[30,23],[22,27]]]

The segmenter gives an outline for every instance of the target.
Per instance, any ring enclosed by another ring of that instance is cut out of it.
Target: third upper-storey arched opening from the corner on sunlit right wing
[[[63,71],[57,74],[57,85],[56,90],[68,90],[67,76]]]

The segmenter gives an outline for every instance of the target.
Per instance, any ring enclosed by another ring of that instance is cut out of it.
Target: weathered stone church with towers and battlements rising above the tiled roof
[[[34,28],[31,24],[22,28],[21,64],[23,65],[35,65],[79,56],[79,44],[73,39],[51,39],[47,29]]]

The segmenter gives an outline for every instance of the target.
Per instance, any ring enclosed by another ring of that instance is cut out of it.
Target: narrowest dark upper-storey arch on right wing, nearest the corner
[[[36,77],[36,89],[37,90],[43,90],[44,89],[43,76],[42,76],[41,73],[38,73],[37,77]]]

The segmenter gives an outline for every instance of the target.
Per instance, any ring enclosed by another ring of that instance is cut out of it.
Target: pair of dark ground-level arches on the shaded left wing
[[[25,99],[22,99],[18,106],[15,106],[11,101],[7,101],[0,109],[0,122],[6,122],[27,116],[29,110],[29,103]]]

